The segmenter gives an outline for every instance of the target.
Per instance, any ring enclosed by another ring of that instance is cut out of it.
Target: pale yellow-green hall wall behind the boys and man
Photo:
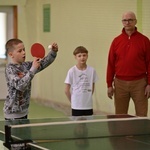
[[[50,4],[50,32],[43,32],[45,4]],[[150,37],[149,0],[1,0],[0,5],[18,6],[18,38],[24,41],[27,60],[33,59],[30,47],[35,42],[41,43],[46,53],[49,44],[59,45],[55,62],[33,79],[33,99],[70,108],[64,94],[64,80],[68,69],[76,63],[73,50],[82,45],[89,50],[87,63],[99,76],[93,95],[94,110],[114,113],[114,103],[108,99],[106,87],[109,47],[121,33],[122,13],[129,10],[137,14],[138,30]],[[132,101],[129,113],[135,113]]]

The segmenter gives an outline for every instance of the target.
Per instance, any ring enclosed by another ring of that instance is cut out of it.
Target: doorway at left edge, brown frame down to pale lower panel
[[[7,94],[5,43],[11,38],[17,38],[17,6],[0,6],[0,29],[0,100],[3,100]]]

